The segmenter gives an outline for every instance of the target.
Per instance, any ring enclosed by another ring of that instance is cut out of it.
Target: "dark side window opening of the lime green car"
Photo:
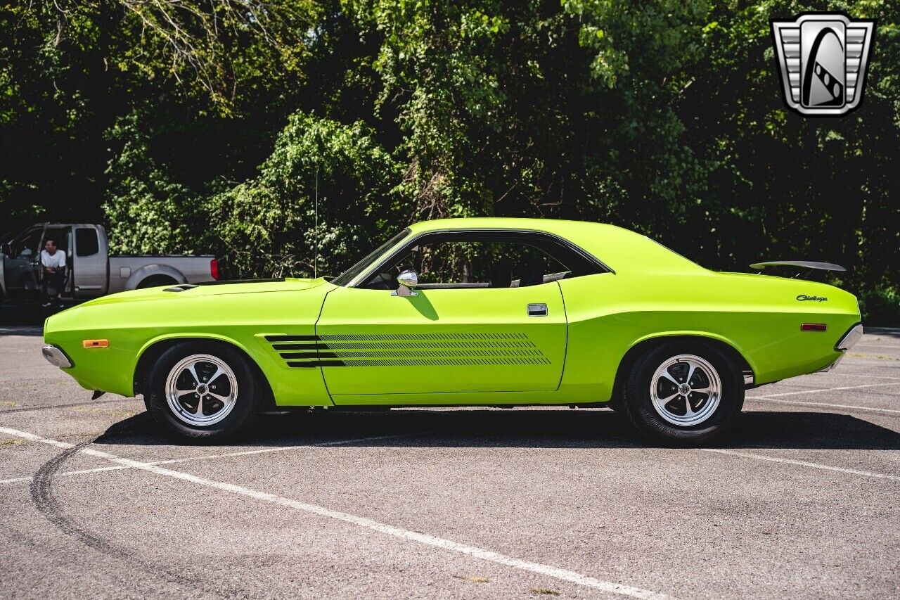
[[[582,264],[586,259],[567,251],[572,252],[536,233],[431,234],[389,259],[364,287],[394,289],[397,275],[408,268],[416,271],[424,289],[538,286],[586,274]],[[602,272],[594,268],[593,272]]]

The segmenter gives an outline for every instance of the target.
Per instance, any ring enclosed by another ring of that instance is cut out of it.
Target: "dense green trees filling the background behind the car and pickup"
[[[856,113],[782,103],[769,19],[806,10],[878,19]],[[898,17],[887,0],[0,5],[0,230],[98,220],[117,250],[211,251],[246,277],[310,273],[316,237],[334,274],[413,220],[546,216],[888,289]]]

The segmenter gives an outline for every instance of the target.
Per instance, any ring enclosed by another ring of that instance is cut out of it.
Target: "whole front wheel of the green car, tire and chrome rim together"
[[[237,349],[218,341],[185,341],[157,360],[145,403],[166,432],[218,442],[247,429],[266,393],[261,376]]]

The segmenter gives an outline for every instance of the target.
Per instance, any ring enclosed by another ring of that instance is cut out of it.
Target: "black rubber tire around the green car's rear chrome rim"
[[[718,405],[702,423],[670,423],[653,405],[651,384],[654,373],[667,361],[680,355],[706,360],[721,380]],[[638,432],[653,441],[665,445],[696,446],[712,441],[727,431],[743,408],[743,393],[741,368],[723,350],[705,341],[669,341],[647,350],[632,364],[622,386],[617,405],[620,410],[617,412],[626,414]]]

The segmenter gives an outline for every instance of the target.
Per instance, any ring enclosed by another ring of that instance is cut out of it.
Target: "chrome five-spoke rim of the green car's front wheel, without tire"
[[[238,377],[222,359],[193,354],[178,361],[166,377],[166,401],[172,414],[194,427],[227,417],[238,399]]]

